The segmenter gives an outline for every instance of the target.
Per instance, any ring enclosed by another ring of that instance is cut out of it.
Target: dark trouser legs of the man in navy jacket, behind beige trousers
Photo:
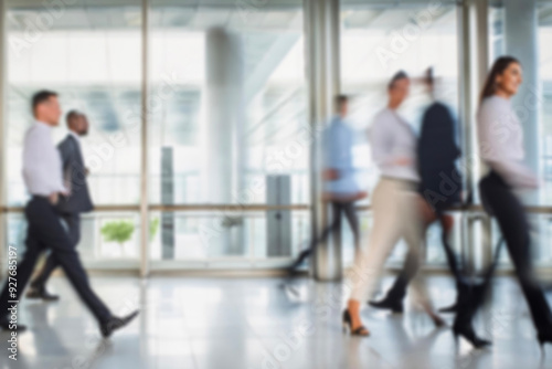
[[[443,218],[439,218],[439,220],[443,220]],[[443,225],[442,242],[443,242],[443,247],[445,250],[445,255],[447,257],[448,267],[450,268],[450,272],[453,273],[458,284],[459,281],[458,261],[456,259],[456,254],[454,253],[453,247],[450,246],[450,243],[448,242],[449,234],[447,232],[446,225],[443,222],[442,225]],[[412,278],[414,278],[414,276],[416,275],[416,272],[420,267],[421,267],[420,256],[417,256],[415,253],[408,252],[406,254],[406,260],[404,262],[403,268],[401,270],[401,273],[393,283],[393,286],[388,292],[385,298],[394,302],[400,302],[404,299],[404,297],[406,296],[406,288],[408,287],[408,284],[412,281]]]

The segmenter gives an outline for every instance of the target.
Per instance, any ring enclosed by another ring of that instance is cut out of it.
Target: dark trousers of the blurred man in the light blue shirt
[[[354,210],[354,202],[332,202],[331,203],[331,223],[325,228],[320,238],[312,240],[309,247],[304,250],[294,264],[290,266],[290,270],[296,270],[304,261],[307,259],[314,251],[317,244],[320,242],[326,242],[328,236],[332,232],[341,231],[341,214],[347,217],[349,221],[349,225],[351,226],[353,236],[354,236],[354,247],[358,250],[360,247],[360,231],[359,231],[359,219],[357,217],[357,212]]]

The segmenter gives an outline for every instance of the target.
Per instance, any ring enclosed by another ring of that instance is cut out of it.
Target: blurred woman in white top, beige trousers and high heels
[[[353,288],[343,312],[343,325],[352,335],[368,336],[369,330],[360,318],[360,302],[373,293],[385,260],[401,238],[408,244],[411,254],[421,256],[422,217],[416,192],[420,177],[416,170],[416,137],[396,109],[408,94],[410,80],[404,72],[393,76],[388,85],[389,105],[380,112],[370,128],[372,159],[381,171],[381,178],[372,198],[373,228],[368,252],[355,259],[351,278]],[[415,299],[429,314],[435,325],[443,320],[433,313],[425,284],[420,273],[414,277]]]

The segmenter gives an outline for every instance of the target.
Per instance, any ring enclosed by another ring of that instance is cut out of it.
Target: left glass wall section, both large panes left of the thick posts
[[[308,128],[302,1],[149,1],[144,110],[141,9],[140,0],[9,2],[7,205],[26,202],[29,102],[49,88],[64,116],[78,109],[91,123],[82,141],[97,209],[79,245],[88,264],[137,265],[141,201],[152,210],[152,261],[289,263],[309,234],[309,147],[297,140]],[[54,141],[66,135],[62,122]],[[23,244],[22,214],[7,224]]]

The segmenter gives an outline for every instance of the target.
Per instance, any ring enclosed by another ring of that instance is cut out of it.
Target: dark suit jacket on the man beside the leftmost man
[[[84,166],[81,145],[72,135],[67,135],[57,145],[63,162],[63,176],[65,183],[68,182],[71,194],[62,196],[57,210],[62,213],[81,213],[92,211],[91,194],[86,183],[86,168]]]

